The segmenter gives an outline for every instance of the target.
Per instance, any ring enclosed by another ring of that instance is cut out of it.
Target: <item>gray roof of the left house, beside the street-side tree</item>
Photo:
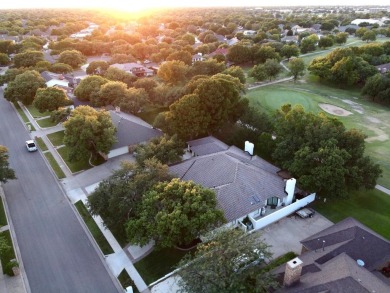
[[[141,124],[127,119],[124,113],[119,115],[114,111],[110,111],[110,115],[112,123],[117,129],[117,142],[111,149],[139,144],[162,135],[160,130],[147,126],[146,122]]]

